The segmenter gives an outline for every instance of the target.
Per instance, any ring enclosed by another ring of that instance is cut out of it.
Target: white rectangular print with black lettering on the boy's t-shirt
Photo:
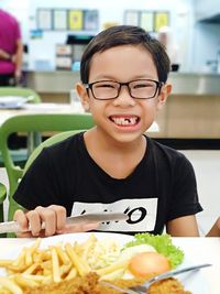
[[[128,220],[101,222],[98,230],[152,231],[156,222],[157,198],[122,199],[110,204],[74,203],[72,216],[95,213],[123,213]]]

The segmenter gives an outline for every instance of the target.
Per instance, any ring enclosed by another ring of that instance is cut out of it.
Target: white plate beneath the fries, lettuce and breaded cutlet
[[[79,233],[66,233],[66,235],[58,235],[58,236],[53,236],[48,238],[42,239],[41,242],[41,248],[46,248],[50,244],[56,244],[58,242],[84,242],[86,241],[91,232],[79,232]],[[96,232],[96,237],[101,240],[101,239],[111,239],[118,241],[121,246],[124,243],[133,240],[132,236],[128,235],[122,235],[122,233],[108,233],[108,232]],[[35,240],[33,239],[33,242]],[[26,247],[31,246],[32,243],[28,243]],[[21,251],[22,247],[18,247],[16,250],[13,250],[12,252],[8,252],[3,259],[15,259],[19,255],[19,252]],[[189,265],[194,265],[193,262],[187,261],[187,252],[185,252],[186,260],[183,262],[182,265],[178,268],[185,268]],[[4,275],[4,271],[0,269],[0,275]],[[210,288],[208,286],[208,283],[202,276],[201,271],[195,271],[195,272],[189,272],[185,274],[178,275],[178,280],[183,282],[185,290],[190,291],[193,294],[210,294]]]

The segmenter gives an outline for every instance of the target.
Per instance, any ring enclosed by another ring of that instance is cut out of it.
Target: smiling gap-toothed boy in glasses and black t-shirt
[[[102,31],[87,46],[77,92],[96,127],[45,149],[14,195],[28,213],[15,213],[32,236],[98,229],[198,236],[195,173],[177,151],[144,132],[164,106],[172,86],[161,43],[138,26]],[[129,220],[65,225],[66,214],[121,211]],[[23,233],[22,236],[26,236]]]

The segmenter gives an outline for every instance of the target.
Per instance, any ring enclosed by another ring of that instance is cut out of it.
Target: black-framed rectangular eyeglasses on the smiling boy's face
[[[113,80],[99,80],[85,84],[86,89],[90,89],[94,98],[98,100],[111,100],[119,97],[121,87],[127,86],[129,94],[135,99],[152,99],[161,90],[163,81],[154,79],[136,79],[128,83]]]

